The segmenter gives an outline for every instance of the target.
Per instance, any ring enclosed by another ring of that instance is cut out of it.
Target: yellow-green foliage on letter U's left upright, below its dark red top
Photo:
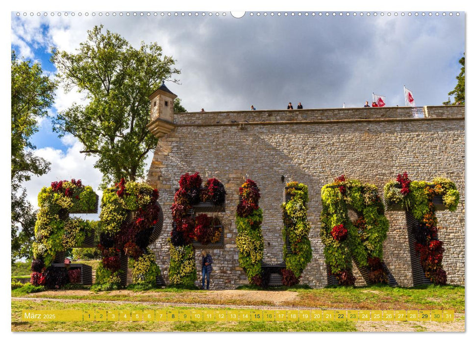
[[[261,223],[263,222],[263,210],[258,208],[248,217],[235,217],[238,235],[236,247],[238,248],[238,262],[245,270],[248,280],[253,276],[261,275],[261,261],[263,260],[263,234]]]

